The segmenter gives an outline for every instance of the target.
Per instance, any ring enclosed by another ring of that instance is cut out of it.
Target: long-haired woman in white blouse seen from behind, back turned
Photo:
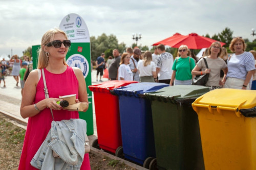
[[[152,54],[149,51],[144,53],[144,59],[139,60],[137,69],[139,70],[140,82],[155,82],[156,65],[152,61]]]

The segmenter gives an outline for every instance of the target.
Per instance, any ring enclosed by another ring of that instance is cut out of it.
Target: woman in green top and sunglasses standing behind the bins
[[[192,74],[191,70],[195,67],[195,60],[188,57],[188,47],[186,45],[181,45],[179,47],[180,57],[176,57],[172,69],[173,75],[170,79],[170,85],[191,85]]]

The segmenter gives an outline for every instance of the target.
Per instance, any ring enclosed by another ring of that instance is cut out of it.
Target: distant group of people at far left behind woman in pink
[[[21,93],[23,94],[25,80],[32,68],[33,63],[28,56],[19,58],[17,55],[13,55],[9,61],[6,61],[5,58],[3,58],[0,62],[0,85],[3,80],[3,87],[6,87],[5,78],[7,75],[12,75],[16,81],[16,86],[18,86],[20,82],[20,87],[22,88]]]

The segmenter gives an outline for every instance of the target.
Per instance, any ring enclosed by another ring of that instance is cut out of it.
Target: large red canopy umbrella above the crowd
[[[181,45],[187,45],[189,49],[201,49],[201,48],[209,47],[212,44],[212,42],[216,42],[216,40],[200,36],[196,33],[191,33],[186,36],[180,35],[177,38],[169,39],[167,41],[162,40],[159,42],[162,42],[163,45],[168,45],[174,48],[178,48]],[[220,43],[221,43],[221,46],[225,45],[224,42],[220,42]]]

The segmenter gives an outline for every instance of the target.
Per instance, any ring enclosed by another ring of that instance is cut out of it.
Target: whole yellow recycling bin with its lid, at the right
[[[216,89],[192,106],[205,169],[256,169],[256,90]]]

